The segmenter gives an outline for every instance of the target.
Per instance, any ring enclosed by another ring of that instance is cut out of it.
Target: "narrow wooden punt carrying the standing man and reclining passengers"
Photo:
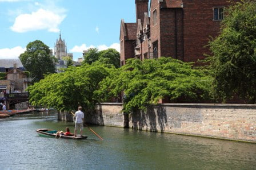
[[[38,133],[39,136],[51,136],[51,137],[55,138],[57,130],[51,130],[48,128],[40,128],[40,129],[36,130],[36,132]],[[59,137],[60,136],[58,135],[57,138],[59,138]],[[61,135],[61,138],[64,138],[64,139],[86,139],[87,136],[77,135],[77,137],[75,137],[74,134],[71,134],[71,135]]]

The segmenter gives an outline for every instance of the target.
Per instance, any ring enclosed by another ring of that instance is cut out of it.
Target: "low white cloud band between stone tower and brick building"
[[[70,49],[70,52],[80,52],[80,53],[82,53],[83,50],[87,50],[89,48],[98,48],[99,51],[109,49],[109,48],[114,48],[118,52],[120,52],[120,44],[119,43],[111,44],[109,47],[107,47],[107,45],[98,45],[97,47],[95,47],[94,45],[87,46],[86,44],[82,44],[80,46],[75,45],[72,49]]]

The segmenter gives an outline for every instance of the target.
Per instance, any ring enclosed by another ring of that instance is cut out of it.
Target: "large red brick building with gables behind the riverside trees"
[[[238,0],[234,0],[238,1]],[[218,35],[226,0],[135,0],[136,23],[121,20],[121,65],[126,59],[161,56],[182,61],[210,53],[210,36]],[[149,17],[150,13],[150,17]]]

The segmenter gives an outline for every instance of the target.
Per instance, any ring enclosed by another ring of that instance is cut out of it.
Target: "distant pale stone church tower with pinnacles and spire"
[[[59,32],[59,39],[55,43],[54,55],[58,60],[62,60],[62,57],[67,56],[67,44],[64,39],[61,39],[61,32]]]

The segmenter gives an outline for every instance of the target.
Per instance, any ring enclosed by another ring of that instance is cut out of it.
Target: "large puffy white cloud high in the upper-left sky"
[[[11,26],[11,30],[27,32],[46,29],[49,32],[59,32],[58,26],[65,18],[66,15],[64,14],[56,14],[49,10],[39,9],[31,14],[17,16],[13,26]]]

